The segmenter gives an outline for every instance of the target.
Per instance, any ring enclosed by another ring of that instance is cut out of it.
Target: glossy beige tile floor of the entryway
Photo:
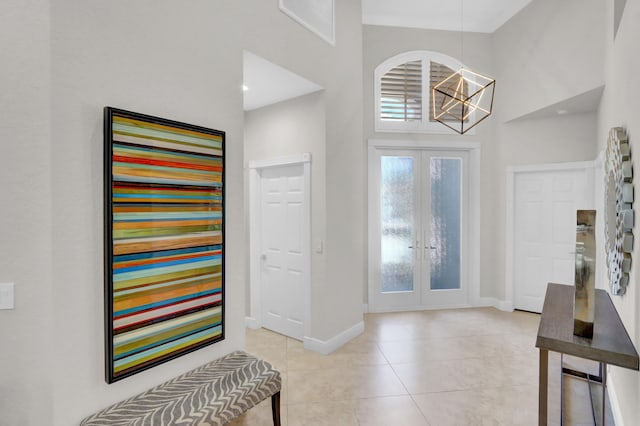
[[[537,424],[539,315],[479,308],[367,314],[364,321],[362,335],[327,356],[247,330],[247,351],[282,372],[283,425]],[[550,424],[559,424],[557,354],[549,368]],[[592,424],[587,383],[565,385],[565,424]],[[269,400],[232,422],[270,424]]]

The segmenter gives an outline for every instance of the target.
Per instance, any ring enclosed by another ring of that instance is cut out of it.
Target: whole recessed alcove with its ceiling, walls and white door
[[[316,83],[247,51],[243,90],[247,326],[306,341],[311,336],[312,264],[322,254],[317,223],[323,216],[313,215],[312,225],[311,208],[322,205],[316,197],[324,188],[324,94]],[[311,250],[312,229],[319,251]]]

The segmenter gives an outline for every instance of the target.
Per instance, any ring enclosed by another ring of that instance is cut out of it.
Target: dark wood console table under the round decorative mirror
[[[573,335],[573,291],[572,285],[549,283],[547,286],[536,340],[536,347],[540,349],[539,425],[547,424],[549,351],[600,363],[600,376],[565,371],[566,369],[563,369],[563,372],[583,375],[582,377],[602,383],[603,425],[607,364],[639,369],[638,353],[606,291],[596,290],[593,339]]]

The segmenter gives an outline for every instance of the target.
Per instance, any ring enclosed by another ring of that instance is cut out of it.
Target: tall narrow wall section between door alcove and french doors
[[[364,229],[366,196],[362,156],[362,7],[360,0],[336,1],[340,49],[331,60],[315,58],[312,66],[324,79],[326,109],[326,244],[325,282],[312,291],[312,325],[322,328],[313,336],[328,340],[362,321],[364,282]],[[301,55],[300,60],[305,58]],[[311,62],[311,61],[308,61]]]

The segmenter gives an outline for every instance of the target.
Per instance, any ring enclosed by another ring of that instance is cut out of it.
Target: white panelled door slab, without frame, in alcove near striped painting
[[[262,325],[302,339],[310,232],[304,167],[269,167],[259,174]]]

